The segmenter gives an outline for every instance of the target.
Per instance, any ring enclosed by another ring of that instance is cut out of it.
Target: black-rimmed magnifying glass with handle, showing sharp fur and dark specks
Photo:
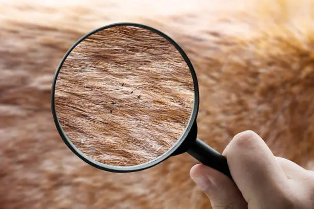
[[[187,152],[231,178],[226,158],[197,138],[193,66],[159,30],[119,23],[84,35],[56,70],[51,106],[63,141],[94,167],[135,172]]]

